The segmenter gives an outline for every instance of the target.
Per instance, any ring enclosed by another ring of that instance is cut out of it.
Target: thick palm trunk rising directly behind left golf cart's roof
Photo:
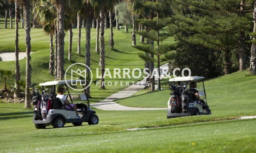
[[[65,7],[66,0],[61,0],[59,3],[59,7],[57,7],[57,11],[59,14],[59,31],[58,31],[58,71],[59,71],[59,80],[63,80],[64,77],[64,18],[65,18]]]

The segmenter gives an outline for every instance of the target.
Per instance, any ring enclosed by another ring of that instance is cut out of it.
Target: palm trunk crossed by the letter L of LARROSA
[[[105,89],[104,85],[104,73],[105,73],[105,44],[104,44],[104,29],[105,29],[105,8],[101,8],[100,10],[100,61],[99,61],[99,67],[100,67],[100,89]]]

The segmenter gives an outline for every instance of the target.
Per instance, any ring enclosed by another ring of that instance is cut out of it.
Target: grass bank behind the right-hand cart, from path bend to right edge
[[[256,76],[245,75],[246,71],[236,72],[205,81],[207,103],[213,114],[255,115]],[[160,92],[142,90],[115,102],[129,107],[166,108],[169,93],[167,89]]]

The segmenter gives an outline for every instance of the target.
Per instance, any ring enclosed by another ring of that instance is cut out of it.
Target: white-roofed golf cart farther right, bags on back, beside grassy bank
[[[172,90],[170,93],[171,98],[168,100],[167,118],[189,116],[189,115],[211,115],[211,110],[207,105],[206,92],[203,83],[204,77],[175,77],[169,81]],[[181,82],[181,86],[175,86],[175,82]],[[191,92],[191,82],[197,83],[197,90],[201,102],[197,99],[194,92]],[[189,84],[189,89],[187,85]]]

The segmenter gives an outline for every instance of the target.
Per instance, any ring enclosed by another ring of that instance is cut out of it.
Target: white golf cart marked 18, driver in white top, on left
[[[81,117],[80,119],[77,119],[75,109],[71,105],[62,102],[62,99],[56,98],[56,85],[64,84],[68,92],[66,99],[68,101],[69,97],[69,100],[71,103],[73,103],[67,83],[80,81],[85,82],[85,80],[59,80],[40,83],[39,86],[42,86],[41,94],[39,93],[38,89],[36,89],[36,93],[35,89],[31,88],[34,95],[33,123],[35,124],[36,128],[46,128],[46,126],[49,125],[52,125],[53,128],[62,128],[66,123],[72,123],[74,126],[80,126],[82,125],[82,122],[88,122],[89,125],[98,124],[98,116],[95,115],[96,112],[89,107],[90,103],[84,86],[82,86],[84,93],[81,92],[80,97],[81,100],[87,100],[88,105],[83,103],[75,103],[77,107],[77,113]],[[44,91],[45,86],[53,86],[52,99],[49,97],[49,93]]]

